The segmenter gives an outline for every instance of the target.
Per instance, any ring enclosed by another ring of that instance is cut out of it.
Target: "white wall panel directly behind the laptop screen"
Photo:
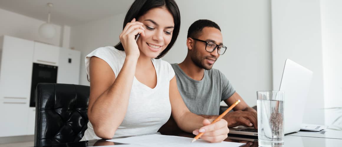
[[[324,124],[320,22],[319,0],[272,0],[273,89],[279,89],[287,58],[314,73],[304,123]]]

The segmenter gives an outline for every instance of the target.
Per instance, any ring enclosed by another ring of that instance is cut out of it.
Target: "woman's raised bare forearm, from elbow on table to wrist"
[[[127,112],[137,58],[126,57],[114,83],[103,92],[88,111],[95,134],[112,138]]]

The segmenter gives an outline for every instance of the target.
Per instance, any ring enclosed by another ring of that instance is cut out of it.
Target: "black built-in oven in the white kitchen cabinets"
[[[36,106],[36,87],[38,83],[56,83],[58,67],[33,63],[30,107]]]

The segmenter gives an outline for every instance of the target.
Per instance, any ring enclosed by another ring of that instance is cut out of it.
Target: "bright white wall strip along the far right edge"
[[[321,0],[325,108],[342,107],[341,5],[341,0]],[[336,115],[336,112],[327,110],[325,113],[326,124],[331,124],[341,115],[341,113]],[[340,121],[340,125],[342,125],[341,123]]]

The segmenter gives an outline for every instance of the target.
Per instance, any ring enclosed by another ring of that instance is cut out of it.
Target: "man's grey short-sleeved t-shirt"
[[[178,90],[190,112],[198,115],[219,115],[220,103],[231,97],[232,84],[217,69],[205,70],[202,80],[187,76],[177,63],[171,64]]]

